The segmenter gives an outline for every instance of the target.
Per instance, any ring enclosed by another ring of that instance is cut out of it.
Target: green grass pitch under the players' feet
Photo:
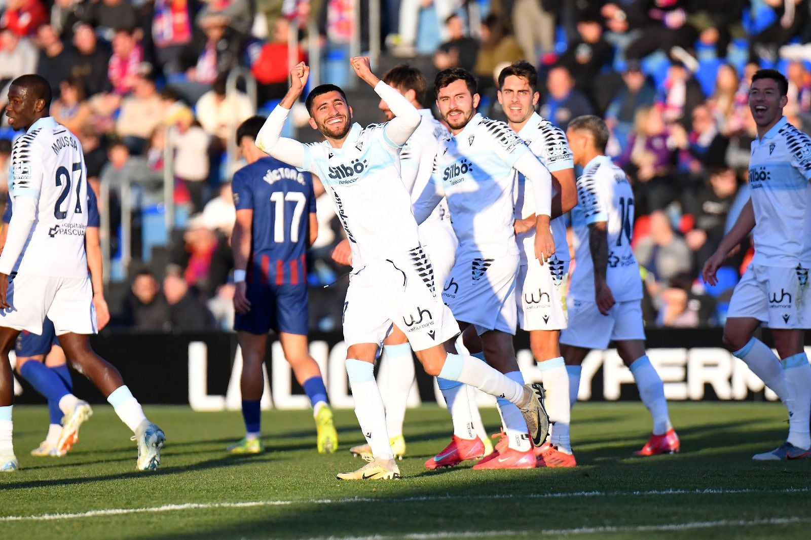
[[[15,408],[21,469],[0,474],[2,538],[809,538],[811,461],[753,462],[787,431],[782,405],[678,403],[682,452],[635,458],[650,421],[640,403],[578,404],[575,469],[473,471],[474,461],[429,472],[448,413],[406,415],[405,478],[341,482],[363,465],[363,437],[337,411],[341,448],[315,452],[308,411],[263,414],[259,456],[229,456],[238,412],[148,407],[168,439],[161,469],[135,470],[135,444],[112,409],[97,405],[68,456],[28,455],[45,435],[45,407]],[[498,425],[484,409],[485,425]],[[59,516],[54,516],[60,514]],[[68,514],[68,515],[65,515]]]

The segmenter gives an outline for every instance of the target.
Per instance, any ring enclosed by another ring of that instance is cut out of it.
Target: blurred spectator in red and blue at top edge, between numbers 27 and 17
[[[152,45],[158,66],[165,74],[181,70],[180,54],[191,43],[195,0],[155,0],[152,13]]]

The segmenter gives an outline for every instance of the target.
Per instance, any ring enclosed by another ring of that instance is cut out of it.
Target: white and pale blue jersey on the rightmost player
[[[811,138],[781,118],[752,141],[749,187],[755,213],[752,264],[811,264]]]

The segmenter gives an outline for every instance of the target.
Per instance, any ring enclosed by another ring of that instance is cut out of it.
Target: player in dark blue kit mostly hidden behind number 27
[[[6,226],[0,234],[0,251],[6,243],[7,224],[11,221],[11,195],[2,221]],[[102,280],[101,238],[99,235],[98,204],[96,194],[88,189],[88,227],[84,229],[84,248],[88,254],[88,271],[93,287],[93,307],[99,330],[109,323],[109,309],[104,298],[104,281]],[[71,372],[67,369],[67,358],[62,345],[59,345],[54,323],[45,317],[42,322],[41,335],[31,332],[20,332],[15,341],[15,368],[21,375],[48,400],[50,424],[45,440],[31,451],[32,456],[64,456],[79,440],[79,426],[92,414],[90,405],[73,395]],[[79,414],[70,414],[79,405]],[[61,405],[61,406],[60,406]],[[69,418],[70,423],[62,426],[62,418]]]

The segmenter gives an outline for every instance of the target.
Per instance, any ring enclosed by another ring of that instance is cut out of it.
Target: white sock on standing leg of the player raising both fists
[[[374,364],[347,358],[346,373],[350,376],[355,416],[372,455],[381,460],[393,460],[392,447],[388,445],[383,397],[375,382]]]

